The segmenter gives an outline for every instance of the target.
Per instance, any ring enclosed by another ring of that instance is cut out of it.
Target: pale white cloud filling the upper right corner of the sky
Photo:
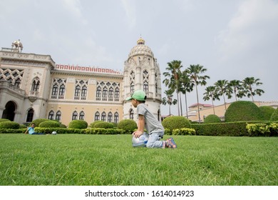
[[[278,4],[273,0],[247,0],[219,35],[222,59],[246,56],[277,38]],[[275,34],[274,34],[275,33]]]

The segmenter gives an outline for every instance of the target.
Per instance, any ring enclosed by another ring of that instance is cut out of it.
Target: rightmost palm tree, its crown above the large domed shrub
[[[245,93],[247,94],[248,98],[251,96],[252,97],[252,101],[254,102],[254,95],[259,95],[261,96],[264,91],[262,89],[253,89],[252,86],[259,86],[262,85],[261,82],[259,82],[259,79],[254,79],[254,77],[246,77],[243,81],[242,81],[242,86],[244,87],[244,89],[246,89]]]

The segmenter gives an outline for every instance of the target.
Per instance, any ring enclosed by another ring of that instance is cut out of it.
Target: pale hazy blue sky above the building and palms
[[[0,1],[0,47],[21,39],[23,52],[51,55],[56,64],[123,70],[142,36],[162,74],[169,61],[180,60],[183,69],[204,66],[206,86],[254,76],[265,91],[255,101],[278,100],[277,24],[277,0]],[[187,98],[195,104],[195,91]]]

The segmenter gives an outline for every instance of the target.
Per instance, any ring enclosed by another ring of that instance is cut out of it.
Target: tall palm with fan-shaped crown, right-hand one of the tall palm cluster
[[[199,106],[199,96],[198,96],[198,85],[205,86],[207,84],[206,79],[210,79],[210,76],[200,76],[200,74],[205,73],[207,69],[204,68],[204,66],[201,66],[200,64],[197,65],[191,65],[186,69],[187,74],[190,77],[190,82],[192,86],[195,86],[196,88],[196,96],[197,96],[197,108],[198,108],[198,117],[199,117],[199,123],[201,122],[200,118],[200,106]]]

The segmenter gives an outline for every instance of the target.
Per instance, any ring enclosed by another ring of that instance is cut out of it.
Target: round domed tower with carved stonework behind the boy
[[[133,94],[133,91],[141,89],[147,95],[145,104],[161,121],[160,69],[153,51],[145,45],[144,39],[138,39],[137,45],[128,54],[123,76],[123,119],[137,120],[136,109],[125,99]]]

